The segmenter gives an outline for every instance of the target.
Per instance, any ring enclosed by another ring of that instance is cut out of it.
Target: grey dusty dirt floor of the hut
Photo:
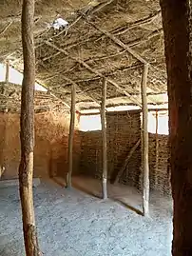
[[[58,183],[61,181],[59,180]],[[100,183],[82,178],[74,186],[101,194]],[[34,188],[36,222],[46,256],[169,256],[171,200],[152,194],[150,218],[135,211],[142,197],[130,187],[110,186],[106,202],[77,188],[44,181]],[[123,203],[120,203],[122,201]],[[129,207],[125,207],[129,205]],[[0,256],[23,256],[17,187],[0,189]]]

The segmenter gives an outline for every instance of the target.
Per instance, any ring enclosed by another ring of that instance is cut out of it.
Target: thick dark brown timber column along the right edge
[[[192,255],[192,21],[191,3],[161,0],[168,76],[172,255]]]

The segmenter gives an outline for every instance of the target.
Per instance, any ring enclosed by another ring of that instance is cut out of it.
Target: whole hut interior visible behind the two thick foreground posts
[[[0,10],[0,255],[21,256],[22,1],[0,2]],[[159,1],[37,0],[33,21],[33,199],[42,253],[171,255]]]

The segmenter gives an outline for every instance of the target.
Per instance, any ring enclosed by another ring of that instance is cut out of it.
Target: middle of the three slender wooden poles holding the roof
[[[103,80],[102,89],[102,155],[103,155],[103,198],[107,199],[107,148],[106,148],[106,79]]]

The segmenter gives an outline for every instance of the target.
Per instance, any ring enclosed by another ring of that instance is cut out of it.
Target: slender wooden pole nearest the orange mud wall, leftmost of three
[[[76,86],[71,85],[71,107],[70,107],[70,127],[68,136],[68,172],[67,172],[67,187],[72,186],[72,156],[73,156],[73,137],[75,128],[75,97],[76,97]]]

